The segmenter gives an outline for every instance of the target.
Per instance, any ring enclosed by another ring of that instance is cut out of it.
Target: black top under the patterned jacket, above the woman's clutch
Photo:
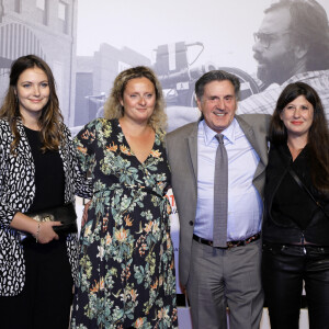
[[[65,173],[59,151],[42,152],[39,132],[24,129],[35,166],[35,197],[29,212],[60,206],[65,202]]]

